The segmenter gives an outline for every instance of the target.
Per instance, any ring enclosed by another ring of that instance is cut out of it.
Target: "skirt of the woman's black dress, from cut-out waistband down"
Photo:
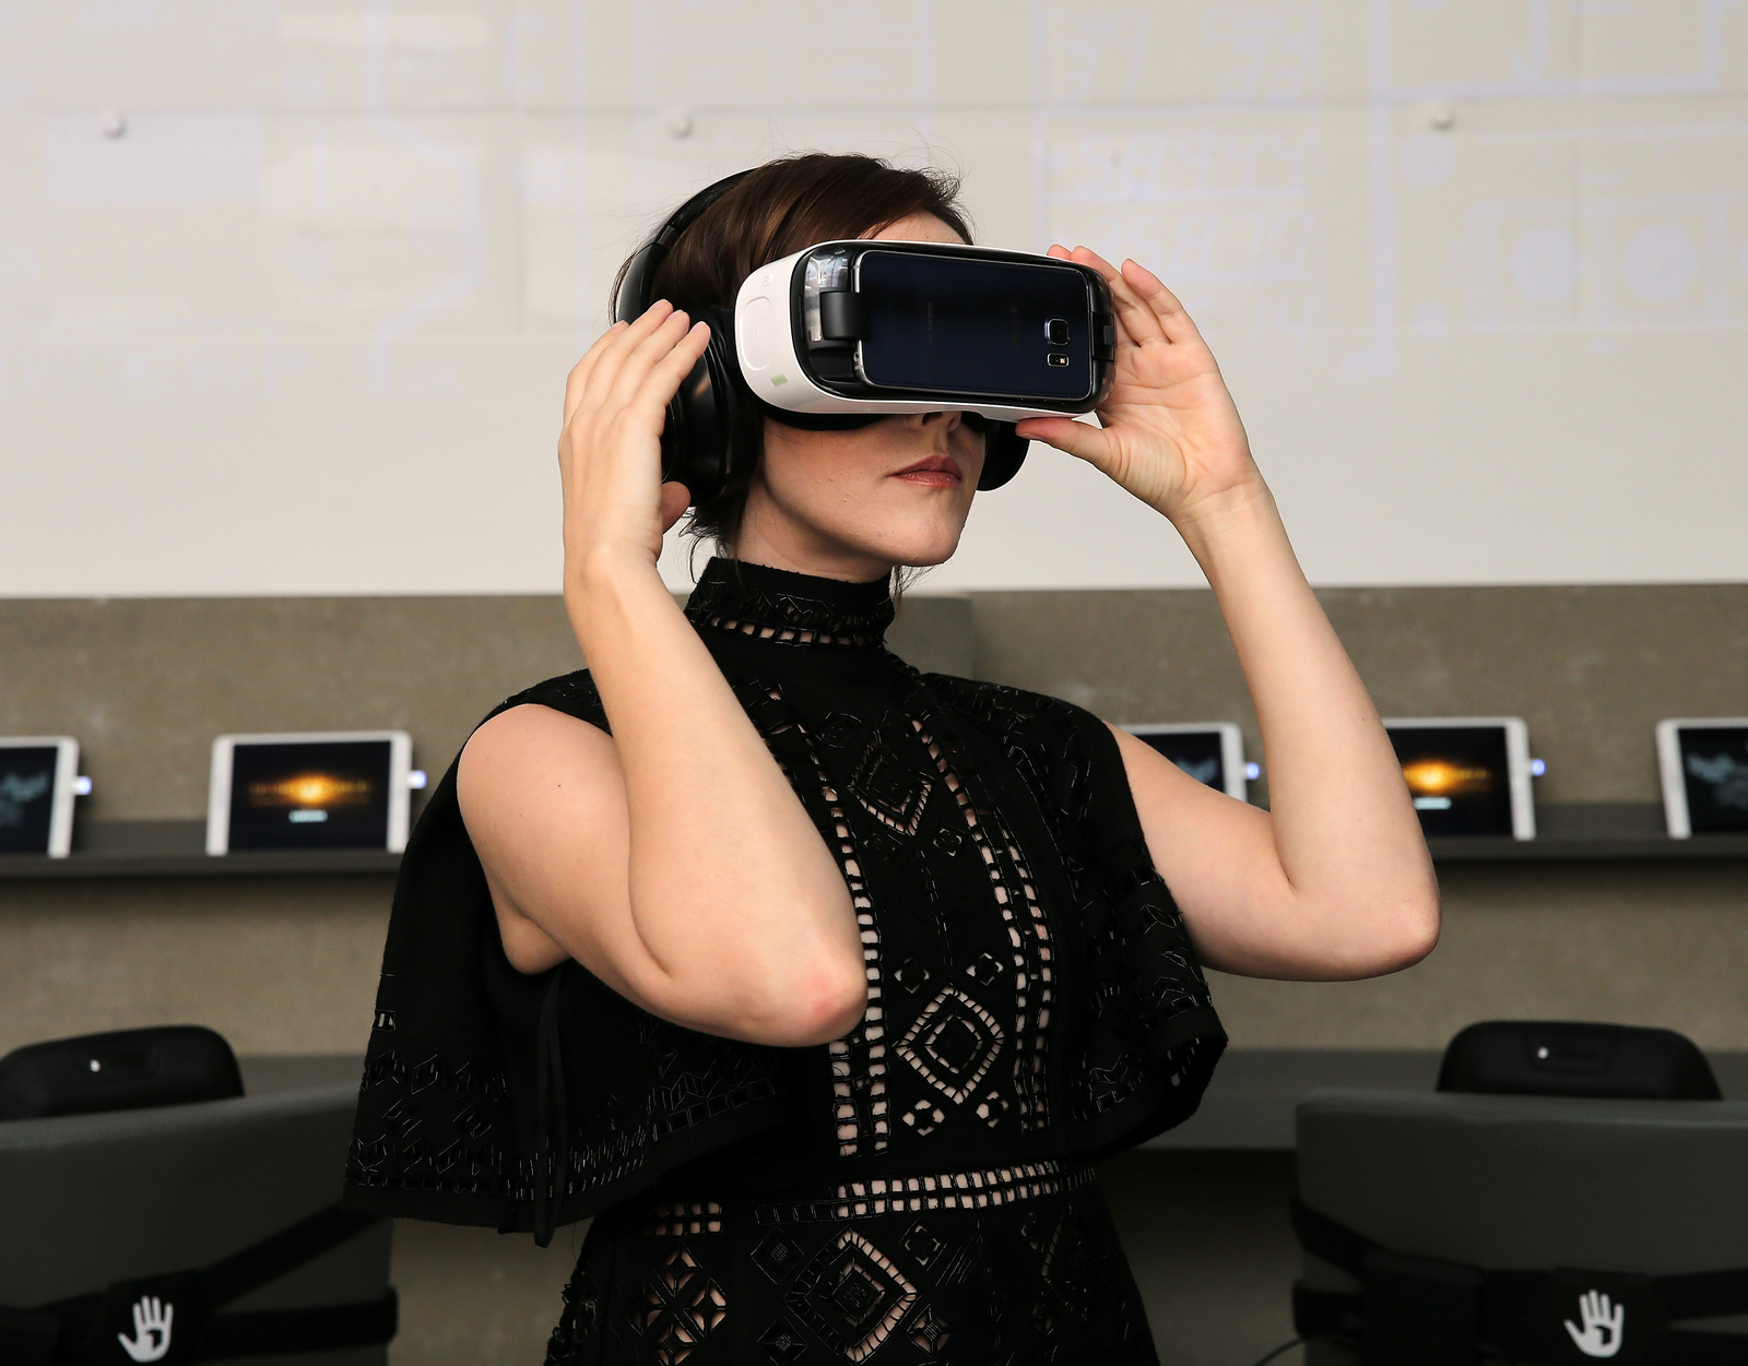
[[[1030,1163],[834,1195],[825,1218],[809,1218],[815,1202],[727,1202],[717,1235],[600,1216],[549,1366],[1157,1366],[1091,1169]],[[649,1270],[619,1319],[598,1286],[628,1261]]]

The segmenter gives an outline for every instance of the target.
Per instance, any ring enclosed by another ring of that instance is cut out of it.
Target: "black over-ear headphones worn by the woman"
[[[656,232],[626,262],[614,299],[614,321],[640,318],[654,304],[656,271],[685,229],[750,171],[736,171],[687,199],[668,215]],[[715,498],[729,479],[752,465],[759,449],[759,419],[771,417],[783,426],[808,431],[846,431],[877,423],[877,414],[804,414],[787,412],[757,400],[741,379],[741,362],[734,349],[734,309],[704,307],[697,320],[710,323],[710,344],[692,372],[668,402],[668,421],[661,433],[661,477],[685,484],[692,503]],[[975,412],[965,424],[984,433],[984,468],[979,489],[1000,489],[1019,473],[1030,442],[1012,423],[993,423]]]

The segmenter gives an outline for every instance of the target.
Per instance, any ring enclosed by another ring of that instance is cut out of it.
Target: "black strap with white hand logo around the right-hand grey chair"
[[[1489,1272],[1393,1252],[1299,1202],[1294,1231],[1360,1282],[1358,1294],[1295,1284],[1294,1326],[1356,1345],[1365,1366],[1474,1366],[1482,1354],[1533,1366],[1748,1366],[1748,1333],[1673,1328],[1748,1314],[1748,1268]]]

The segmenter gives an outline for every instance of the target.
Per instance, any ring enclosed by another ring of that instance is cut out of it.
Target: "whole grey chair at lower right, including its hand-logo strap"
[[[1313,1092],[1295,1228],[1311,1363],[1748,1363],[1745,1102]]]

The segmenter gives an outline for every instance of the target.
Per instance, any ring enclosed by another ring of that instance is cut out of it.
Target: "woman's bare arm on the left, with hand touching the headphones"
[[[612,735],[512,707],[468,741],[458,795],[517,968],[575,957],[676,1024],[823,1043],[867,1003],[850,893],[656,573],[685,508],[659,484],[662,409],[703,335],[657,304],[566,386],[565,604]]]

